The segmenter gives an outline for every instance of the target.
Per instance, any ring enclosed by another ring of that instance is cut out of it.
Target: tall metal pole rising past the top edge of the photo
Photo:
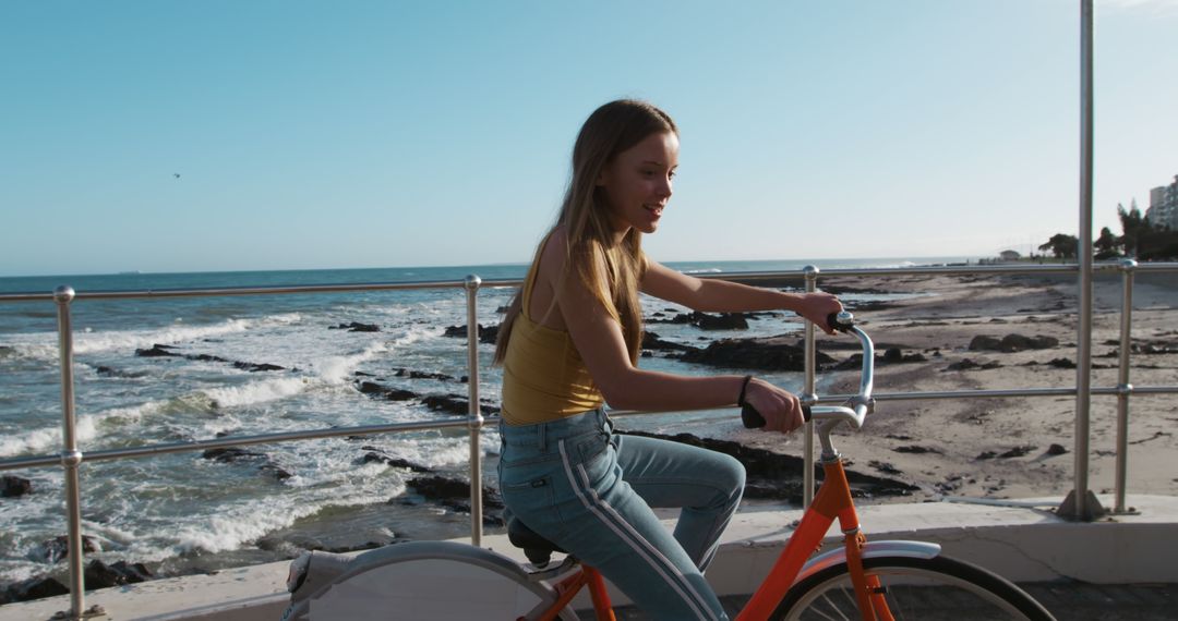
[[[1080,0],[1080,258],[1079,321],[1076,346],[1076,487],[1059,513],[1092,521],[1105,513],[1088,489],[1088,435],[1092,405],[1092,0]]]

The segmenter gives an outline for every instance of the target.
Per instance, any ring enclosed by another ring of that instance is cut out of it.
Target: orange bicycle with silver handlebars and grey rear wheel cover
[[[814,501],[789,543],[736,621],[896,619],[1052,620],[1023,589],[986,569],[941,554],[937,543],[868,541],[859,526],[842,456],[830,433],[841,425],[858,429],[872,409],[874,346],[849,313],[830,322],[854,334],[863,354],[859,393],[845,406],[814,406],[825,472]],[[746,407],[747,427],[765,420]],[[821,554],[834,523],[842,546]],[[573,599],[588,587],[596,619],[614,619],[604,581],[591,567],[565,556],[549,567],[557,546],[509,521],[511,542],[530,566],[495,552],[449,541],[401,543],[355,559],[304,553],[291,563],[291,605],[284,621],[296,620],[537,620],[578,619]]]

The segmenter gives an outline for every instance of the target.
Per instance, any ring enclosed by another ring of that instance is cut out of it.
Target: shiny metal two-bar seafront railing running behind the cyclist
[[[1079,269],[1077,265],[1039,265],[1039,266],[938,266],[938,267],[901,267],[901,268],[863,268],[863,269],[828,269],[821,272],[822,276],[893,276],[893,275],[1018,275],[1018,274],[1074,274]],[[1127,472],[1127,432],[1129,432],[1129,399],[1132,394],[1171,394],[1178,393],[1178,386],[1153,386],[1133,387],[1129,383],[1129,362],[1132,336],[1132,292],[1134,287],[1133,275],[1137,272],[1147,273],[1178,273],[1178,263],[1146,263],[1138,265],[1132,260],[1124,260],[1118,263],[1103,263],[1097,269],[1120,271],[1123,274],[1123,300],[1121,300],[1121,323],[1119,346],[1118,385],[1105,388],[1088,388],[1087,393],[1096,395],[1117,395],[1118,399],[1118,422],[1117,422],[1117,474],[1116,474],[1116,498],[1114,510],[1125,510],[1125,487]],[[819,268],[807,266],[801,272],[746,272],[722,275],[704,275],[702,278],[726,278],[743,282],[756,282],[765,280],[799,279],[805,282],[806,291],[815,291],[820,276]],[[429,282],[376,282],[355,285],[317,285],[317,286],[279,286],[279,287],[232,287],[232,288],[204,288],[204,289],[152,289],[152,291],[121,291],[121,292],[82,292],[75,293],[71,287],[58,287],[52,294],[0,294],[2,302],[25,301],[49,301],[57,305],[58,309],[58,336],[60,346],[60,379],[61,379],[61,410],[62,410],[62,450],[60,455],[25,456],[0,460],[0,470],[34,468],[60,465],[65,470],[66,480],[66,510],[68,521],[68,546],[70,546],[70,582],[71,582],[71,607],[70,619],[86,619],[100,616],[101,610],[85,610],[84,581],[82,581],[82,554],[81,554],[81,526],[80,526],[80,499],[81,489],[78,482],[78,469],[84,461],[110,461],[119,459],[133,459],[153,455],[163,455],[191,450],[205,450],[210,448],[226,448],[246,445],[285,442],[294,440],[312,440],[322,438],[333,438],[343,435],[370,435],[383,433],[401,433],[422,429],[441,429],[466,427],[470,438],[470,496],[471,496],[471,542],[481,545],[482,541],[482,455],[479,450],[479,435],[484,426],[484,419],[479,410],[478,399],[478,291],[483,287],[517,287],[519,280],[491,280],[482,281],[478,276],[471,275],[463,281],[429,281]],[[241,438],[224,438],[216,440],[200,440],[192,442],[174,442],[151,445],[134,448],[119,448],[108,450],[95,450],[82,453],[77,445],[75,434],[75,410],[74,410],[74,379],[73,379],[73,329],[71,326],[71,305],[79,300],[128,300],[128,299],[152,299],[152,298],[210,298],[231,295],[267,295],[267,294],[307,294],[307,293],[342,293],[342,292],[372,292],[372,291],[406,291],[424,288],[463,288],[466,295],[466,336],[468,336],[468,390],[469,409],[468,418],[463,421],[435,421],[412,423],[372,425],[360,427],[332,427],[323,429],[310,429],[303,432],[286,432],[250,435]],[[849,395],[826,395],[815,394],[815,339],[813,325],[807,322],[805,330],[805,380],[802,400],[807,403],[829,403],[846,400]],[[878,394],[878,401],[893,400],[920,400],[920,399],[994,399],[1015,396],[1061,396],[1079,395],[1077,388],[1023,388],[1023,389],[993,389],[993,390],[949,390],[949,392],[914,392],[914,393],[891,393]],[[638,414],[637,412],[613,410],[611,415],[623,416]],[[1086,429],[1087,421],[1083,421]],[[1087,474],[1087,438],[1079,438],[1079,425],[1077,433],[1077,472],[1074,476]],[[813,428],[807,425],[805,445],[805,478],[806,490],[803,498],[808,505],[814,489],[813,468]],[[1083,472],[1081,472],[1083,470]]]

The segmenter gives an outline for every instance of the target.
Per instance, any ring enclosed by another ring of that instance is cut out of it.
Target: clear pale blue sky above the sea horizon
[[[1079,6],[7,1],[0,275],[522,262],[620,96],[682,133],[659,260],[1025,251],[1079,229]],[[1178,2],[1096,33],[1119,233],[1178,174]]]

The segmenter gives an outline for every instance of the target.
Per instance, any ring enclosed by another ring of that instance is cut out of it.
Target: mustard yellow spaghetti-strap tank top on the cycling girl
[[[554,421],[605,403],[573,336],[528,316],[538,266],[538,260],[532,261],[528,271],[523,307],[503,360],[503,421],[508,425]]]

